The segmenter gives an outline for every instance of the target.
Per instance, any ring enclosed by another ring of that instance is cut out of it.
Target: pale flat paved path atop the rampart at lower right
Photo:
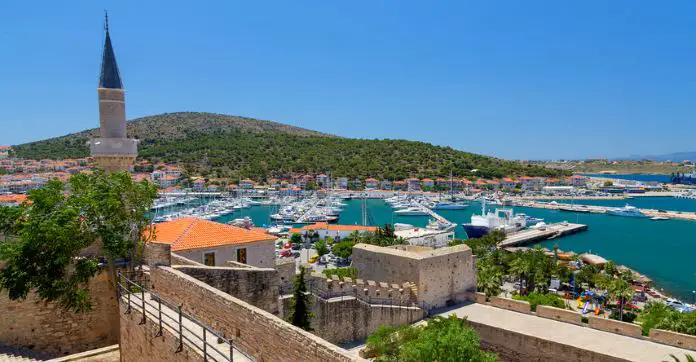
[[[684,359],[685,354],[696,355],[694,351],[671,347],[638,338],[621,336],[558,322],[546,318],[517,313],[483,304],[469,304],[440,313],[448,316],[456,313],[476,323],[504,328],[541,339],[566,344],[629,361],[671,361],[670,354]]]

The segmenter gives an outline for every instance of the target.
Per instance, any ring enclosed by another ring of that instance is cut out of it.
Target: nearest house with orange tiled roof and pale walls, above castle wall
[[[244,229],[187,217],[155,225],[154,243],[208,266],[229,266],[228,261],[260,268],[275,267],[275,241],[261,229]]]

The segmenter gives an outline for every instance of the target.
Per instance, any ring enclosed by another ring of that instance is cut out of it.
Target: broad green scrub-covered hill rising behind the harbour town
[[[97,130],[14,147],[18,157],[84,157]],[[210,113],[167,113],[129,122],[139,156],[179,162],[191,174],[263,180],[331,171],[351,178],[558,176],[568,171],[522,165],[450,147],[405,140],[348,139],[270,121]],[[478,169],[472,174],[472,169]]]

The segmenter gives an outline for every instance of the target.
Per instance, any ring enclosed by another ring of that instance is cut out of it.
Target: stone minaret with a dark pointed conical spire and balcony
[[[104,52],[99,76],[99,138],[90,142],[90,153],[106,172],[127,171],[138,155],[137,141],[127,138],[126,102],[116,55],[105,15]]]

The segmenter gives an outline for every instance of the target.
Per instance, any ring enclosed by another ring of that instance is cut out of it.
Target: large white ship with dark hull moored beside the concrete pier
[[[486,211],[486,201],[481,202],[481,215],[471,215],[471,223],[462,227],[468,238],[480,238],[491,230],[511,233],[527,227],[526,215],[515,215],[512,209]]]

